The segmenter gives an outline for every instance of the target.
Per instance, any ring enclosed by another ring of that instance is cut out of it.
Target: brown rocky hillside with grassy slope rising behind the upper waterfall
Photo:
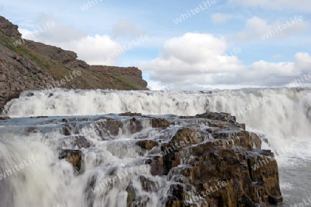
[[[0,16],[0,112],[22,90],[148,90],[138,68],[89,66],[75,52],[21,39],[17,28]]]

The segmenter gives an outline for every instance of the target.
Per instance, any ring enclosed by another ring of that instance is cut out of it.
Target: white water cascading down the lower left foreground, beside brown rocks
[[[159,198],[165,197],[165,192],[144,192],[140,176],[153,180],[159,187],[166,186],[167,181],[164,177],[151,176],[150,166],[143,164],[144,157],[139,155],[140,148],[134,144],[126,123],[117,136],[110,140],[107,136],[105,141],[95,130],[96,121],[71,131],[91,142],[91,148],[82,148],[84,173],[76,175],[71,164],[58,158],[59,141],[64,141],[58,128],[62,119],[52,118],[50,122],[44,129],[41,128],[44,121],[36,119],[1,126],[1,207],[126,206],[125,189],[129,183],[135,188],[136,196],[148,201],[148,206],[160,206]],[[34,126],[46,131],[30,132]],[[158,134],[148,120],[142,120],[142,126],[140,134],[147,137]],[[66,141],[66,145],[70,146],[73,140]]]

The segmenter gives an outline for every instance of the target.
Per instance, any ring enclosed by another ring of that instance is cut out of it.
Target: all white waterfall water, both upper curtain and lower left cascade
[[[12,99],[3,110],[10,117],[35,116],[89,116],[120,112],[141,112],[144,115],[196,115],[207,111],[229,112],[248,130],[262,133],[269,139],[270,148],[279,150],[294,145],[299,152],[281,161],[311,159],[311,89],[310,88],[247,88],[242,90],[213,91],[117,91],[117,90],[64,90],[26,91],[19,99]],[[55,118],[56,119],[56,118]],[[24,122],[23,122],[24,121]],[[62,121],[60,121],[62,122]],[[15,165],[40,159],[0,179],[0,207],[19,206],[124,206],[126,185],[129,181],[138,196],[148,199],[149,206],[160,206],[159,197],[165,197],[165,188],[158,193],[146,194],[138,175],[153,179],[156,186],[167,186],[167,180],[150,175],[149,165],[142,164],[144,156],[131,143],[126,128],[117,139],[102,141],[94,124],[75,132],[91,141],[84,153],[84,174],[76,176],[72,166],[58,159],[57,141],[64,138],[55,121],[53,130],[28,133],[30,126],[40,126],[36,119],[24,118],[19,122],[0,126],[0,171],[8,172]],[[75,134],[73,133],[73,134]],[[159,132],[144,123],[142,136],[154,138]],[[28,159],[29,158],[29,159]],[[281,157],[283,158],[283,157]],[[280,158],[280,159],[281,159]],[[279,160],[278,160],[279,162]],[[105,188],[95,187],[107,177],[133,168],[124,179],[117,179]],[[7,171],[6,171],[7,170]],[[93,188],[90,189],[90,185]],[[281,184],[282,185],[282,184]],[[109,190],[113,189],[113,190]],[[167,189],[166,189],[167,190]],[[14,195],[14,196],[13,196]],[[104,197],[104,198],[103,198]],[[92,200],[92,202],[91,202]],[[91,202],[91,203],[90,203]]]

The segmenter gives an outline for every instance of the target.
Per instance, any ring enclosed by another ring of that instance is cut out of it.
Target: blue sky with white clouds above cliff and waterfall
[[[2,0],[23,38],[91,65],[135,66],[151,90],[311,86],[310,0]]]

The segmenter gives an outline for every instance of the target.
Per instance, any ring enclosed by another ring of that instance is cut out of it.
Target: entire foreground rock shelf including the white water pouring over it
[[[0,206],[282,201],[274,154],[228,113],[4,118],[0,127]],[[15,168],[33,155],[41,159]]]

